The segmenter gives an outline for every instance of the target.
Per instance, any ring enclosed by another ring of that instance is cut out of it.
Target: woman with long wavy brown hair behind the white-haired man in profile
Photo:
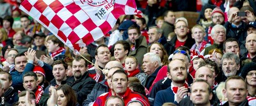
[[[148,52],[157,53],[158,56],[161,59],[162,66],[168,64],[168,55],[166,50],[164,49],[164,46],[160,44],[159,42],[154,42],[148,47]]]

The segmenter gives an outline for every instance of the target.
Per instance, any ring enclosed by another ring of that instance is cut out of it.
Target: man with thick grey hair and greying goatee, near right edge
[[[228,77],[238,75],[240,68],[240,59],[234,53],[225,53],[222,57],[222,81],[224,82]]]

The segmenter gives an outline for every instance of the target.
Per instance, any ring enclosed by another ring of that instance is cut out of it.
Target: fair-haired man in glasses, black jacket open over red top
[[[187,46],[188,48],[191,48],[192,44],[195,43],[191,35],[189,35],[186,18],[181,17],[176,19],[174,27],[174,32],[176,36],[174,36],[171,41],[167,42],[167,44],[164,45],[168,55],[171,55],[179,46]]]

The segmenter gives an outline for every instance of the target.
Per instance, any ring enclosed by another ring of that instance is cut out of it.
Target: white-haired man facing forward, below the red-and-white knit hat
[[[223,51],[223,42],[226,40],[226,28],[219,24],[215,25],[211,31],[211,36],[214,40],[214,43],[213,45],[208,46],[203,50],[203,55],[208,55],[209,51],[213,49],[219,49]]]

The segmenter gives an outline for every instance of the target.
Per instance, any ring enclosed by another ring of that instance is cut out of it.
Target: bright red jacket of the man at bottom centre
[[[112,93],[110,91],[108,93],[105,93],[105,95],[99,96],[95,100],[93,106],[105,106],[105,102],[106,102],[107,98],[110,97],[111,95],[112,95]],[[150,106],[148,98],[146,98],[145,96],[143,96],[140,93],[131,91],[129,88],[127,88],[126,92],[121,97],[123,98],[125,106],[132,100],[137,100],[137,101],[141,102],[143,104],[143,106]]]

